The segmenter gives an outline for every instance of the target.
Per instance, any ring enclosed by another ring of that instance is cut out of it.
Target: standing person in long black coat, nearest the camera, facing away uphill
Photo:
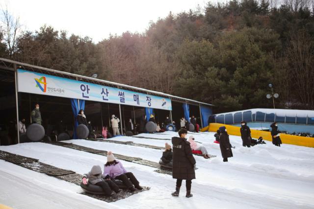
[[[185,136],[187,131],[185,129],[179,130],[180,137],[172,137],[173,147],[173,167],[172,178],[177,179],[176,191],[172,196],[179,196],[182,180],[186,183],[185,197],[192,197],[191,184],[192,179],[195,179],[195,165],[196,161],[192,155],[190,143],[186,140]]]

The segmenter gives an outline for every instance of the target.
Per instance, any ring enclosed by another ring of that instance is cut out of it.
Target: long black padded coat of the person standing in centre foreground
[[[196,163],[190,143],[185,138],[172,137],[173,167],[172,178],[195,179],[194,164]]]

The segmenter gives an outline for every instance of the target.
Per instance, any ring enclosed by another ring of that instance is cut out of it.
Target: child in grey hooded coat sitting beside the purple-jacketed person
[[[82,182],[87,184],[87,179],[88,183],[102,187],[106,196],[111,194],[111,189],[114,190],[115,193],[120,191],[119,186],[115,184],[109,176],[102,175],[102,168],[99,165],[94,165],[90,172],[84,174]]]

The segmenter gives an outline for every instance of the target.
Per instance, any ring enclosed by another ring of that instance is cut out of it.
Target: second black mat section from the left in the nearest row
[[[36,171],[39,173],[44,173],[49,176],[62,176],[62,175],[75,173],[74,171],[57,168],[57,167],[54,167],[52,165],[48,165],[42,162],[24,162],[19,165],[29,170]]]

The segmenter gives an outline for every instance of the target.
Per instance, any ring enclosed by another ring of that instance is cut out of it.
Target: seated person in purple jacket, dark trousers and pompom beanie
[[[135,176],[131,172],[127,172],[122,163],[114,158],[111,151],[107,153],[107,162],[104,166],[104,176],[107,175],[112,179],[121,180],[131,192],[135,191],[135,188],[143,189]]]

